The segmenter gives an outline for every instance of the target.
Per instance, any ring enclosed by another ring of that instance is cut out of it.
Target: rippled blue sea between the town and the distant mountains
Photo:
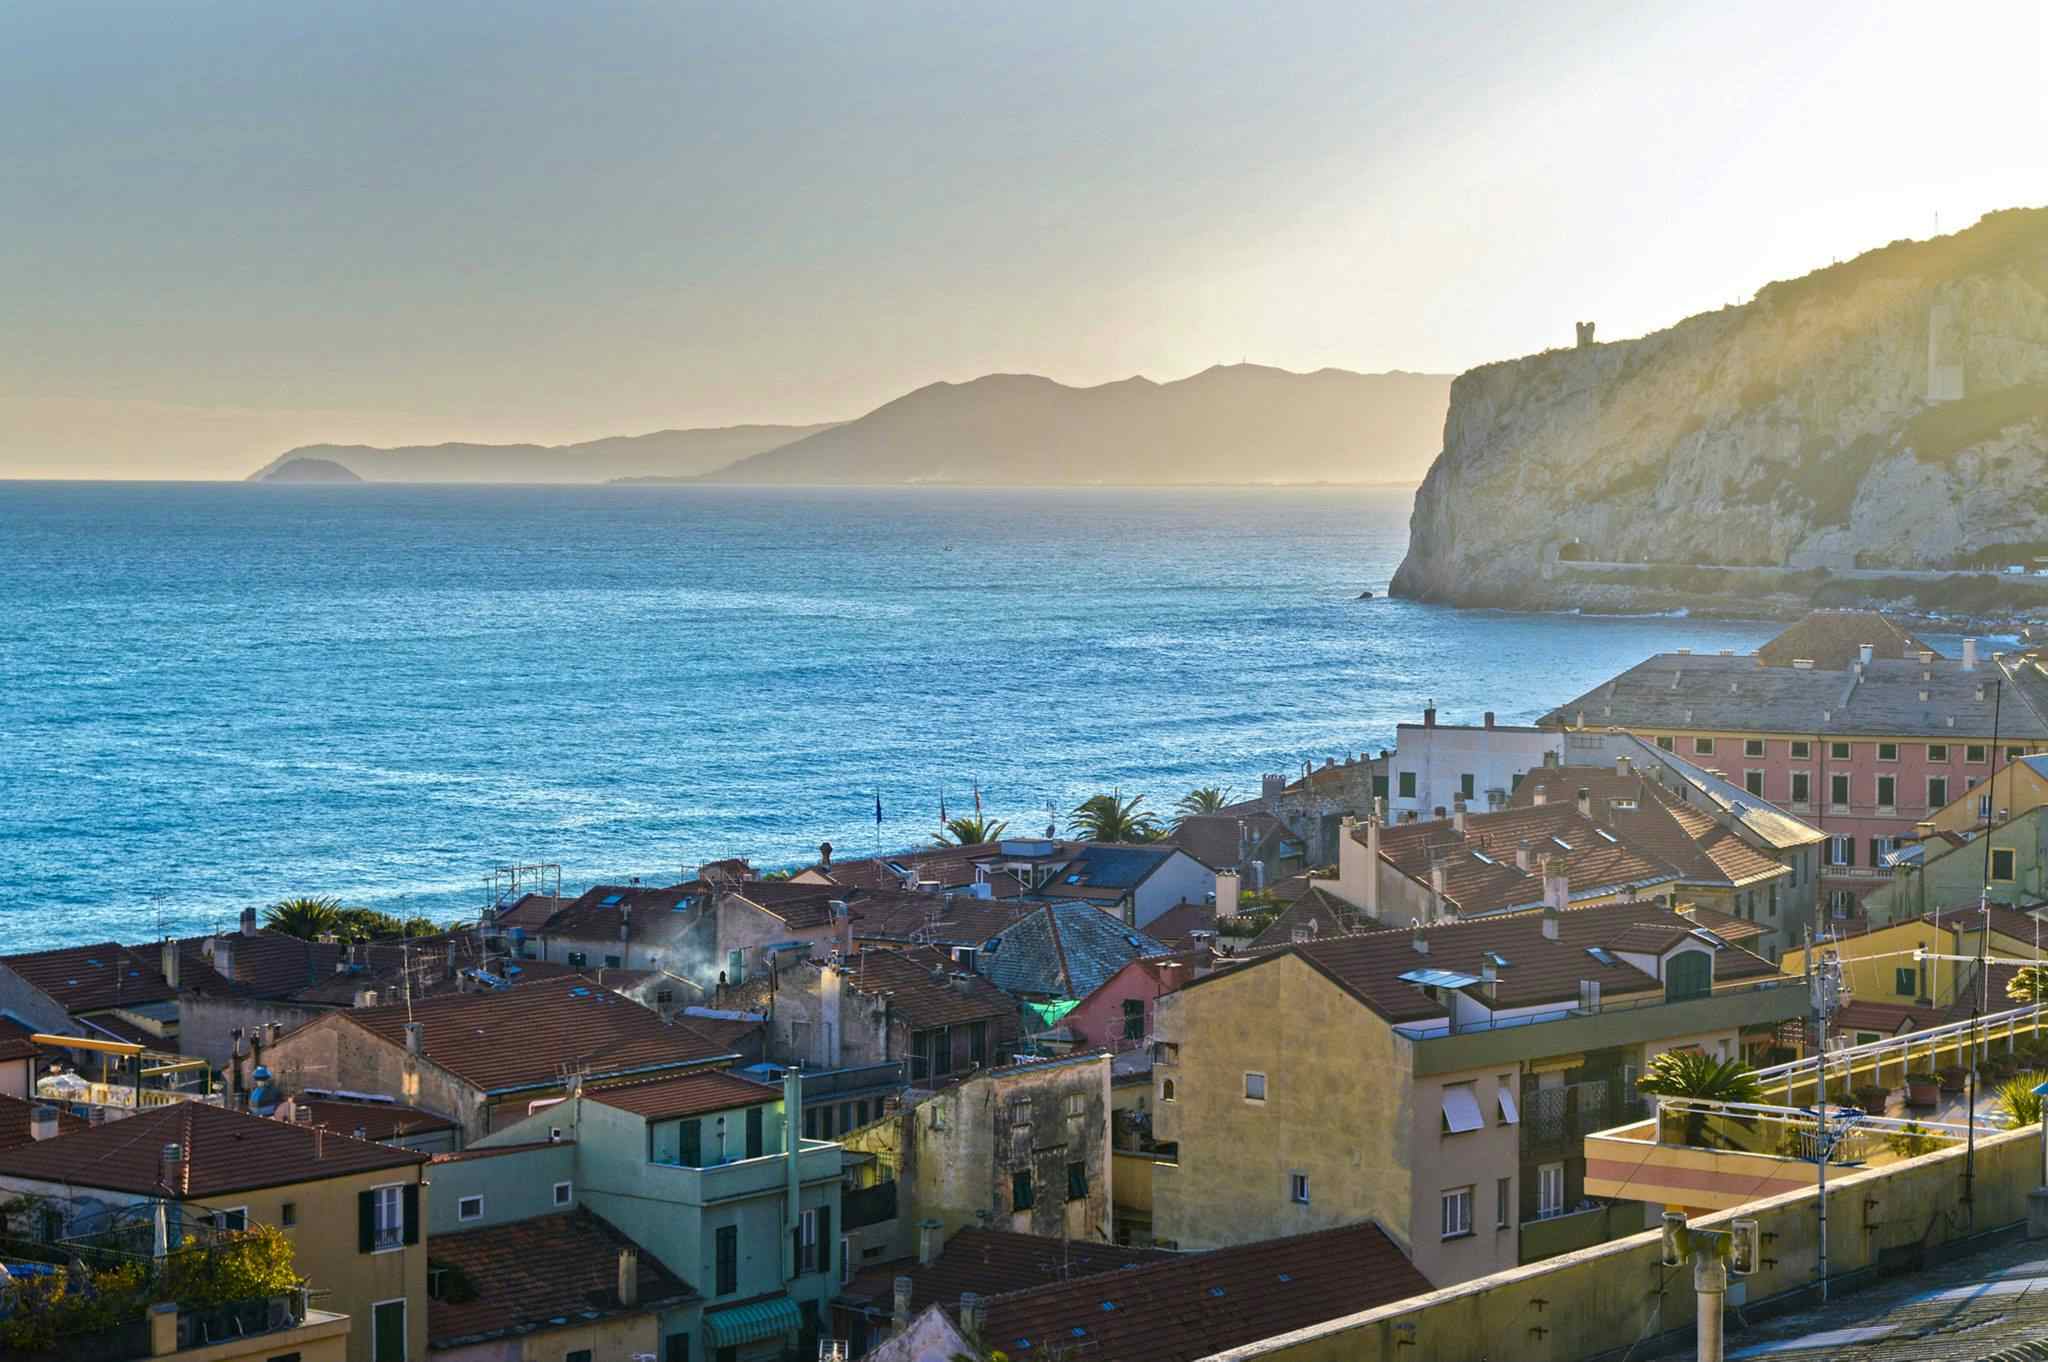
[[[1409,500],[0,483],[0,950],[1249,795],[1776,631],[1356,600]]]

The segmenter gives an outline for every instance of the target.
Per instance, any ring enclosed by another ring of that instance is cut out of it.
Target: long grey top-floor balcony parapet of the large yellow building
[[[1788,975],[1716,987],[1712,993],[1679,1002],[1642,997],[1597,1008],[1554,1008],[1464,1024],[1456,1030],[1450,1022],[1411,1022],[1395,1026],[1395,1034],[1413,1047],[1411,1071],[1423,1077],[1640,1045],[1661,1036],[1769,1026],[1800,1016],[1806,1016],[1806,983]]]

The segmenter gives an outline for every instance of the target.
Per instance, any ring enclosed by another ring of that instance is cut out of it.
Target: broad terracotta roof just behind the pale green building
[[[696,1030],[670,1026],[584,975],[492,993],[442,993],[414,1002],[410,1014],[422,1026],[426,1059],[483,1092],[551,1086],[565,1065],[604,1075],[729,1055]],[[406,1004],[338,1016],[391,1045],[406,1045]]]

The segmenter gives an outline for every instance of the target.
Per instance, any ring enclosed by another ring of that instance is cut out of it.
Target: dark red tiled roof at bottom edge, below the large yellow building
[[[983,1307],[981,1337],[1012,1358],[1057,1346],[1192,1362],[1425,1290],[1430,1280],[1366,1221],[999,1294]]]

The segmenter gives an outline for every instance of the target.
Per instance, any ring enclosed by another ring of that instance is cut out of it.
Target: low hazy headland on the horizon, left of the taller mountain
[[[250,473],[248,481],[602,483],[614,477],[696,477],[821,430],[829,426],[655,430],[582,444],[301,444]]]

